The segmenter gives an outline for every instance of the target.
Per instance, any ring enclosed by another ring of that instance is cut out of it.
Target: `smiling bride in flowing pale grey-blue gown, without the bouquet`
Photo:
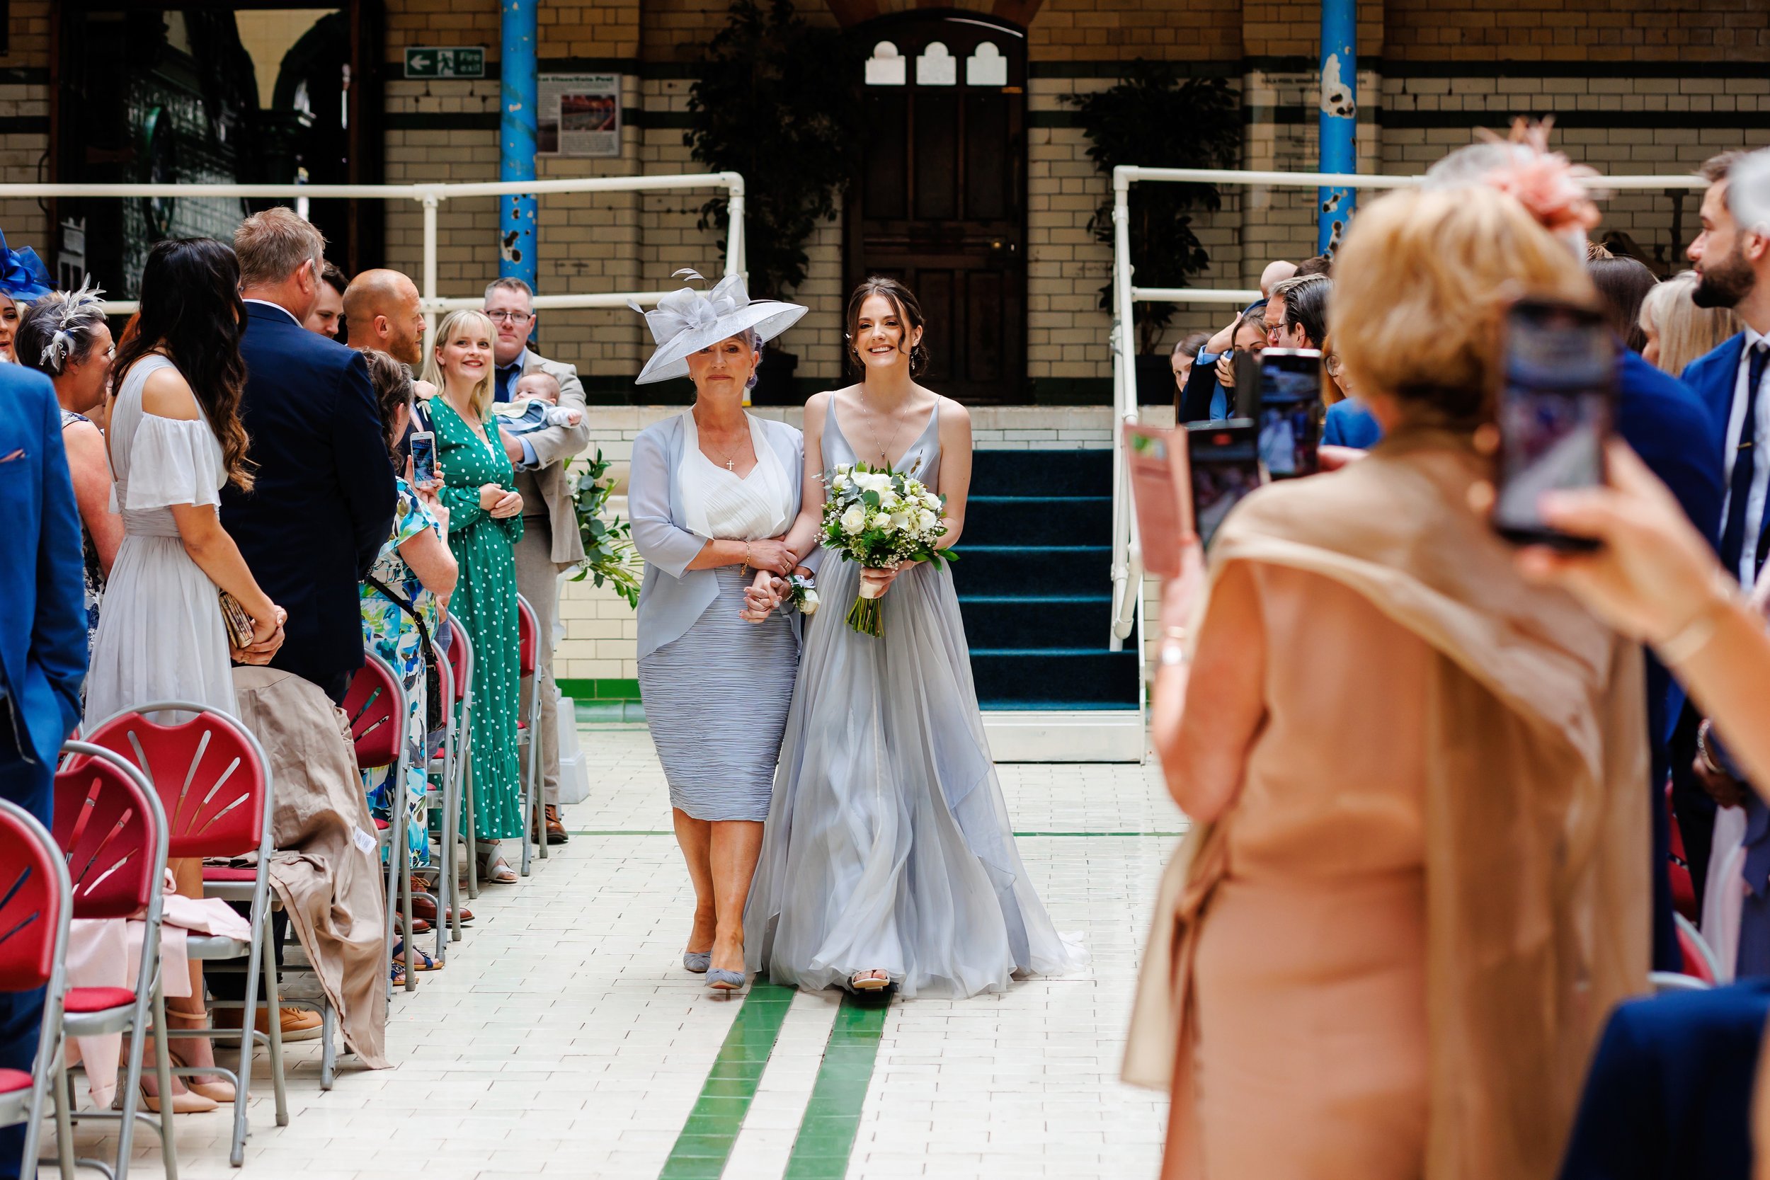
[[[867,280],[848,304],[857,386],[805,405],[804,550],[821,476],[864,460],[913,472],[947,497],[958,540],[972,474],[965,407],[917,386],[922,311],[903,285]],[[885,633],[844,619],[860,579],[889,587]],[[777,984],[901,987],[974,996],[1016,973],[1087,961],[1058,936],[1014,847],[984,741],[952,573],[927,563],[867,570],[825,561],[743,915],[747,968]]]

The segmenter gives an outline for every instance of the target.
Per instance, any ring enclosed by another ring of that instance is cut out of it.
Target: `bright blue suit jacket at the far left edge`
[[[53,762],[80,720],[85,573],[55,386],[21,364],[0,364],[0,725]]]

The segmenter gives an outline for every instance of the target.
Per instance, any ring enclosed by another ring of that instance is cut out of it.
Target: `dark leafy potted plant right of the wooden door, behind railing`
[[[1117,85],[1094,94],[1071,94],[1089,136],[1089,159],[1108,177],[1108,195],[1089,219],[1096,241],[1113,244],[1112,170],[1230,168],[1241,154],[1241,104],[1221,78],[1186,78],[1166,62],[1138,58]],[[1138,287],[1186,287],[1211,265],[1211,255],[1193,232],[1191,212],[1223,205],[1214,184],[1140,184],[1131,193],[1131,265]],[[1101,287],[1101,308],[1112,310],[1112,283]],[[1140,402],[1172,402],[1174,375],[1158,352],[1174,320],[1172,303],[1131,306],[1136,333],[1136,387]]]

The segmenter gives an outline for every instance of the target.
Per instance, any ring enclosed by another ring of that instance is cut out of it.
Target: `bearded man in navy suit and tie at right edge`
[[[1754,152],[1763,157],[1765,152]],[[1745,329],[1683,370],[1683,380],[1708,407],[1710,437],[1722,448],[1726,499],[1717,513],[1720,563],[1751,587],[1770,547],[1770,225],[1743,225],[1733,198],[1733,172],[1745,152],[1726,152],[1703,165],[1708,191],[1703,195],[1703,232],[1690,242],[1703,308],[1733,308]],[[1683,831],[1690,876],[1701,897],[1713,840],[1715,803],[1692,768],[1696,716],[1685,711],[1673,759],[1673,805]],[[1749,865],[1761,860],[1770,842],[1765,805],[1740,796],[1749,812]],[[1770,899],[1756,892],[1747,899],[1740,925],[1742,969],[1770,966]]]

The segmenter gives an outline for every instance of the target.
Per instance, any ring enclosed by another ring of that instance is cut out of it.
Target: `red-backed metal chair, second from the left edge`
[[[62,1030],[69,1037],[129,1033],[124,1081],[119,1084],[122,1113],[83,1111],[81,1118],[117,1118],[115,1180],[129,1175],[135,1120],[159,1134],[166,1176],[177,1180],[177,1146],[172,1134],[172,1104],[161,1100],[156,1118],[138,1111],[142,1053],[149,1028],[166,1028],[165,989],[159,971],[159,916],[166,877],[166,816],[154,787],[140,770],[110,750],[85,741],[62,743],[62,766],[55,775],[55,842],[67,856],[73,881],[73,916],[142,918],[142,961],[135,987],[69,987]],[[149,1024],[152,1017],[152,1024]],[[170,1054],[156,1053],[159,1093],[172,1093]],[[85,1162],[85,1161],[81,1161]]]

